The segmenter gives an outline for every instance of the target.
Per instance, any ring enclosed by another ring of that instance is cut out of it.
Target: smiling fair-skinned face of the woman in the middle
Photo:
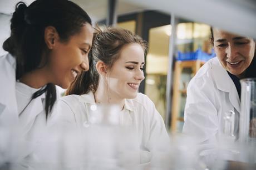
[[[134,99],[141,81],[145,78],[144,64],[144,50],[141,45],[136,43],[125,45],[107,75],[111,96],[116,95],[119,99]]]

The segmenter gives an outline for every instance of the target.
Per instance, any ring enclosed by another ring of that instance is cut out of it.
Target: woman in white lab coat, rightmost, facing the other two
[[[255,78],[255,40],[211,28],[216,57],[196,73],[188,85],[183,132],[198,137],[201,156],[216,148],[225,114],[235,115],[232,135],[238,137],[240,79]],[[234,138],[235,138],[234,137]]]

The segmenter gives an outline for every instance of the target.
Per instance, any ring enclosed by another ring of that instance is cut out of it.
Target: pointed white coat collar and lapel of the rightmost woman
[[[215,59],[213,64],[213,76],[216,81],[217,88],[229,93],[229,100],[231,104],[238,112],[240,112],[240,99],[233,80],[228,75],[227,70],[225,70],[220,64],[218,58]]]

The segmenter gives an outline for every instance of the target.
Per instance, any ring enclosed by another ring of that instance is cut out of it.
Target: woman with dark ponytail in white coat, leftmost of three
[[[56,87],[66,89],[88,70],[91,18],[71,1],[37,0],[16,4],[11,36],[0,56],[0,125],[17,123],[28,134],[46,124]]]

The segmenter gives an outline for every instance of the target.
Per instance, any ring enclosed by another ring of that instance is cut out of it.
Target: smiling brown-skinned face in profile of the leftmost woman
[[[80,33],[71,36],[68,42],[56,40],[47,64],[53,84],[66,89],[77,74],[89,69],[88,52],[91,49],[92,37],[92,26],[86,23],[81,27]]]

